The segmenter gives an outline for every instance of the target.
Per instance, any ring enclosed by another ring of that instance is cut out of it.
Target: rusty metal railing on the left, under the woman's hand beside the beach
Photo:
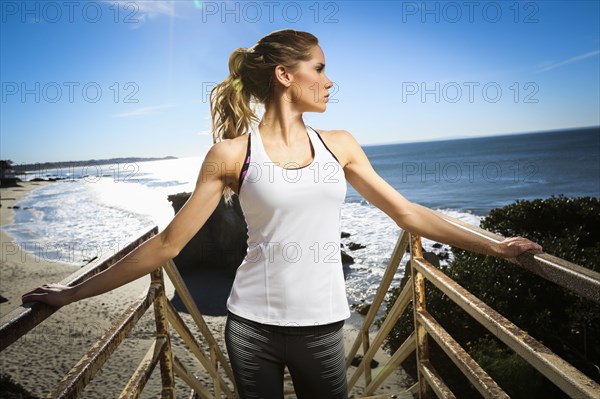
[[[73,286],[100,273],[127,255],[136,246],[146,241],[157,233],[156,227],[152,228],[118,253],[104,260],[92,263],[79,271],[71,274],[61,281],[61,284]],[[184,305],[191,314],[201,335],[209,346],[210,354],[204,353],[200,343],[194,337],[190,328],[183,321],[171,302],[165,295],[163,269],[167,272],[175,290],[179,293]],[[154,305],[156,321],[156,338],[150,345],[146,355],[141,360],[133,375],[127,381],[121,392],[120,398],[137,398],[149,380],[156,365],[160,365],[162,379],[162,398],[174,398],[174,376],[180,377],[200,397],[206,399],[238,398],[237,392],[230,388],[219,372],[222,367],[225,376],[233,381],[231,367],[220,350],[217,341],[206,325],[202,314],[196,307],[191,295],[181,278],[175,264],[167,262],[162,267],[151,273],[151,283],[148,289],[140,295],[121,316],[112,324],[108,331],[88,350],[81,360],[63,377],[55,389],[48,394],[48,398],[77,398],[80,397],[86,385],[91,381],[96,372],[101,369],[115,349],[123,342],[126,335],[135,327],[137,321],[144,315],[148,308]],[[42,323],[57,308],[42,303],[25,304],[13,310],[0,320],[0,352],[27,334],[35,326]],[[213,391],[198,380],[183,366],[183,363],[173,354],[169,325],[179,333],[188,349],[196,356],[213,381]]]

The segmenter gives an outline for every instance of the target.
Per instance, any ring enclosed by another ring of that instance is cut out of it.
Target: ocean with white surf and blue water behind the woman
[[[494,208],[553,195],[600,197],[600,128],[365,146],[375,170],[410,201],[479,225]],[[19,202],[2,226],[26,251],[81,266],[124,247],[173,217],[167,196],[193,190],[203,158],[36,171],[65,180]],[[368,301],[391,256],[399,228],[348,186],[342,240],[365,247],[347,276],[351,303]],[[424,240],[432,250],[434,243]],[[401,268],[398,277],[402,274]]]

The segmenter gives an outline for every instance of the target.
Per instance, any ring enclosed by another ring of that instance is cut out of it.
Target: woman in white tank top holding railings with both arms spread
[[[229,69],[211,92],[217,143],[167,228],[89,280],[44,285],[24,302],[63,306],[150,273],[179,253],[222,195],[235,193],[248,253],[228,299],[225,337],[240,396],[282,398],[287,366],[299,398],[347,398],[342,326],[350,313],[339,252],[346,181],[402,229],[432,240],[504,258],[541,250],[521,237],[491,243],[447,223],[379,177],[350,133],[307,127],[303,113],[324,112],[332,87],[313,35],[275,31],[234,51]],[[251,100],[265,106],[260,121]]]

